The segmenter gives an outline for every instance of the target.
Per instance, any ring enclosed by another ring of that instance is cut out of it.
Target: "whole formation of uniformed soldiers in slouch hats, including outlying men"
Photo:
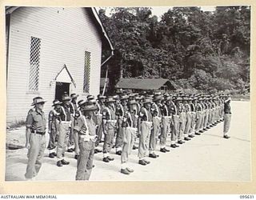
[[[74,152],[78,160],[76,180],[88,180],[95,153],[102,152],[103,162],[114,160],[110,151],[121,155],[121,173],[134,170],[128,166],[131,150],[138,149],[138,164],[146,166],[146,157],[158,158],[156,145],[160,138],[160,152],[170,149],[166,138],[170,134],[171,148],[177,148],[195,135],[224,121],[223,137],[230,127],[230,97],[202,94],[119,94],[115,96],[88,95],[78,101],[78,94],[63,95],[62,102],[54,100],[50,110],[47,149],[49,157],[58,159],[57,166],[68,165],[65,153]],[[26,147],[28,164],[25,177],[33,179],[42,166],[46,148],[46,117],[44,100],[34,98],[26,118]],[[138,140],[138,147],[134,142]],[[103,142],[102,150],[98,144]],[[95,147],[96,146],[96,147]]]

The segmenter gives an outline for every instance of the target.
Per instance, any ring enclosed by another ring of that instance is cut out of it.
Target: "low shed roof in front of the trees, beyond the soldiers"
[[[121,78],[116,87],[123,89],[158,90],[162,86],[169,89],[177,88],[174,82],[165,78]]]

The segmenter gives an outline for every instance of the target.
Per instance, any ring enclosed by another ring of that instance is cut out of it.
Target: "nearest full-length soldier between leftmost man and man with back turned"
[[[57,166],[69,165],[65,158],[66,147],[70,138],[71,129],[71,113],[70,113],[70,100],[68,95],[62,97],[62,106],[59,110],[59,117],[61,122],[59,124],[59,136],[58,136],[58,147],[57,147]]]

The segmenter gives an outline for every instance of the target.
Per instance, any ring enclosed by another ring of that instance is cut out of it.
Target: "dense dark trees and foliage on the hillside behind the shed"
[[[122,76],[169,78],[210,92],[243,94],[249,86],[249,6],[174,7],[159,20],[148,7],[117,7],[110,16],[101,9],[99,16],[115,49],[112,85]]]

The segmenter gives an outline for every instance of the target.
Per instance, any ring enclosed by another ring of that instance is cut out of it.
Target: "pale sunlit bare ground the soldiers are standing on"
[[[170,153],[158,154],[159,158],[148,158],[150,165],[138,165],[138,150],[130,156],[130,166],[134,173],[120,173],[120,156],[112,152],[113,162],[102,162],[102,154],[94,156],[92,181],[250,181],[250,102],[232,102],[232,121],[230,139],[222,138],[223,122],[218,126],[196,136]],[[25,144],[25,129],[20,128],[7,133],[7,142]],[[170,146],[170,138],[168,138]],[[25,148],[6,150],[6,180],[23,181],[26,172]],[[66,153],[69,166],[58,167],[56,160],[48,158],[45,151],[38,181],[74,181],[76,160]]]

